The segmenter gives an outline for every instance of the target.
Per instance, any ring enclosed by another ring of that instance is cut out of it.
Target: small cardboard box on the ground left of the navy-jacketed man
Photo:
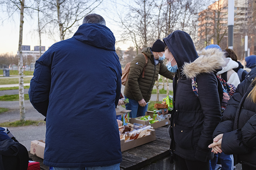
[[[45,142],[43,140],[31,141],[30,154],[36,155],[44,159]]]

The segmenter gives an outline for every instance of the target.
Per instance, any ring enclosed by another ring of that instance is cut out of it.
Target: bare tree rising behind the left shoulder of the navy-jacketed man
[[[91,13],[103,0],[43,0],[49,11],[47,16],[53,20],[50,32],[54,33],[56,26],[59,28],[60,40],[65,39],[65,35],[73,33],[73,28],[84,16]]]

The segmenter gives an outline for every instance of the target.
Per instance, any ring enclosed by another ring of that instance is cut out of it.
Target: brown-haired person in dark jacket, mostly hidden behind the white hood
[[[225,49],[225,51],[226,51],[225,53],[226,57],[229,57],[238,63],[239,66],[237,68],[233,68],[233,70],[236,71],[240,82],[242,82],[245,79],[245,76],[248,74],[248,72],[243,69],[243,65],[241,64],[241,62],[237,61],[237,55],[235,51],[229,48]]]

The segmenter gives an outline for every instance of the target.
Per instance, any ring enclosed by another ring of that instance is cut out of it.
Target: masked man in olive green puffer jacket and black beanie
[[[147,112],[151,92],[154,87],[158,74],[173,79],[174,73],[168,71],[167,67],[161,60],[164,57],[165,44],[161,40],[156,40],[152,48],[148,47],[141,51],[131,62],[128,79],[124,88],[124,97],[129,99],[129,103],[125,104],[126,110],[132,110],[130,117],[139,117]],[[145,56],[148,57],[145,66]],[[145,75],[142,77],[143,68],[145,66]]]

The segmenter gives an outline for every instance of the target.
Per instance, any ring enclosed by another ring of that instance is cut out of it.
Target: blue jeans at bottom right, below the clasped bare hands
[[[210,170],[215,170],[218,157],[221,159],[221,170],[234,170],[233,155],[226,155],[223,152],[214,154],[214,158],[210,160]]]

